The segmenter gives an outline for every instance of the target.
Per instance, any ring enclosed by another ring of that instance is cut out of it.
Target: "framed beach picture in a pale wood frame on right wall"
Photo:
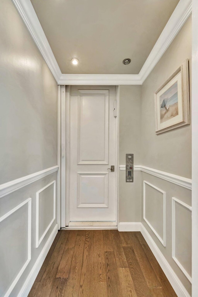
[[[155,92],[155,131],[161,134],[190,124],[188,59]]]

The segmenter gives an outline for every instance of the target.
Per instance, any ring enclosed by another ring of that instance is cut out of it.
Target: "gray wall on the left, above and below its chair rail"
[[[58,87],[11,0],[1,0],[0,10],[0,185],[57,165]],[[39,195],[36,192],[56,181]],[[39,238],[57,213],[57,172],[49,174],[0,198],[0,296],[11,287],[28,260],[28,204],[31,198],[31,260],[16,282],[10,297],[16,297],[54,231],[57,215],[38,248]],[[55,197],[55,208],[53,199]],[[15,212],[9,212],[15,209]],[[7,217],[4,217],[5,215]],[[49,247],[48,247],[49,248]]]

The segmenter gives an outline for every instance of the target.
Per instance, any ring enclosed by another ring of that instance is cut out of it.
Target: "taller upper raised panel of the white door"
[[[78,90],[78,165],[100,164],[109,164],[109,90]]]

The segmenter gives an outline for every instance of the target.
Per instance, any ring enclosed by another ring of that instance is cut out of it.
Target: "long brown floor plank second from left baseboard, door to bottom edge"
[[[36,297],[49,296],[67,238],[68,238],[68,232],[62,231],[60,234],[58,243],[54,248],[54,252],[51,256],[51,259],[49,260],[49,263],[45,269],[40,285],[37,289]]]

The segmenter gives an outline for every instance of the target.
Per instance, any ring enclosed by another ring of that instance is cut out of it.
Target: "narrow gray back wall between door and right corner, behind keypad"
[[[141,86],[119,86],[119,165],[126,153],[134,153],[134,165],[141,163]],[[119,171],[119,222],[141,220],[141,172],[134,172],[134,183],[125,182]]]

